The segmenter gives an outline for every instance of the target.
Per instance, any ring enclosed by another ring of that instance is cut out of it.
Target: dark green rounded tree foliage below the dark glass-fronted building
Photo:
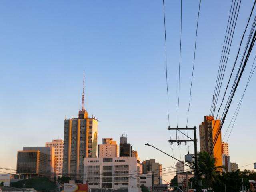
[[[51,182],[48,178],[38,178],[38,179],[24,179],[15,183],[12,183],[12,187],[23,188],[34,188],[37,191],[50,192],[55,189],[55,184]]]

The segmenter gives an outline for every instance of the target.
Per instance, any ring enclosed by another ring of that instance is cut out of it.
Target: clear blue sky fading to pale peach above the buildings
[[[252,3],[242,1],[226,74],[230,73]],[[191,127],[198,127],[209,113],[230,4],[231,0],[202,0],[188,123]],[[183,1],[180,127],[186,126],[197,11],[198,0]],[[180,1],[166,0],[172,127],[177,124],[179,28]],[[81,108],[83,70],[86,109],[99,119],[98,142],[104,137],[119,141],[125,131],[141,160],[155,158],[163,167],[174,164],[168,156],[144,146],[149,142],[172,153],[168,144],[161,0],[4,0],[0,29],[1,167],[16,168],[17,150],[23,146],[44,146],[52,139],[63,138],[65,116],[76,117]],[[255,50],[252,58],[254,55]],[[242,94],[252,58],[224,131]],[[252,151],[255,86],[254,76],[228,141],[231,162],[238,166],[256,161]],[[178,147],[173,148],[180,158]],[[182,159],[186,152],[182,144]]]

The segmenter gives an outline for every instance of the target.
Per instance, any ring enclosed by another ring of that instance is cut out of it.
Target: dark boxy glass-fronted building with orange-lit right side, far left
[[[34,151],[18,151],[17,154],[17,174],[24,178],[39,178],[46,176],[47,154]]]

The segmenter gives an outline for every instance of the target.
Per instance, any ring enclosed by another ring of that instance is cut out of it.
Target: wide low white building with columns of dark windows
[[[140,159],[136,157],[84,158],[84,183],[89,188],[128,188],[140,192]]]

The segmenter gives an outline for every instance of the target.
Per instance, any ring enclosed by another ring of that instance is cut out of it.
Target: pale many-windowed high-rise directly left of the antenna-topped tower
[[[55,148],[55,157],[57,158],[56,176],[62,176],[62,164],[63,164],[63,140],[53,139],[52,142],[46,142],[46,147]]]

